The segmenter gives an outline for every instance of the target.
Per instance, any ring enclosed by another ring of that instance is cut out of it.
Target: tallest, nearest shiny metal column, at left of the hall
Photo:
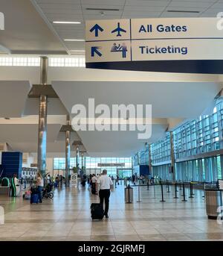
[[[48,57],[41,57],[40,84],[47,84]],[[45,176],[47,144],[48,96],[39,97],[39,130],[38,130],[38,169]]]

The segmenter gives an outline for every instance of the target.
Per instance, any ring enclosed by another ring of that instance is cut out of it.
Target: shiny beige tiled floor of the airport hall
[[[166,202],[160,202],[158,186],[155,195],[153,187],[141,187],[137,202],[135,187],[135,202],[125,204],[124,187],[117,186],[111,192],[110,218],[94,222],[89,208],[98,196],[92,196],[88,187],[55,190],[53,201],[39,205],[0,196],[5,213],[0,240],[223,240],[223,225],[207,219],[202,191],[181,202],[180,195],[173,199],[174,193],[164,190]]]

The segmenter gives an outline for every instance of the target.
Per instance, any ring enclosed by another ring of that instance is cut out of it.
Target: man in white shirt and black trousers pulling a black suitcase
[[[113,185],[111,178],[107,175],[107,170],[103,169],[103,173],[100,178],[97,179],[97,184],[100,185],[99,190],[99,197],[100,197],[100,204],[103,205],[105,201],[105,210],[104,215],[106,218],[109,218],[109,197],[110,197],[110,187]]]

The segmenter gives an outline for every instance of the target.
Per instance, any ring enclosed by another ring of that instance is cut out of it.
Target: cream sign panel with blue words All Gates
[[[216,18],[132,19],[132,39],[222,37]]]

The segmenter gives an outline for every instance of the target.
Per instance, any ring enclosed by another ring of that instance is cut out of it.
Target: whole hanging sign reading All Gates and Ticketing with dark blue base
[[[86,67],[223,73],[223,30],[218,22],[219,18],[88,21]]]

